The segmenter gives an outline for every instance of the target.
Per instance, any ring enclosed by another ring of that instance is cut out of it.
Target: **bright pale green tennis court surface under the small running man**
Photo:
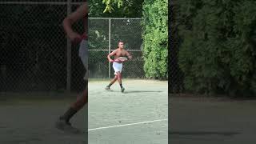
[[[124,79],[124,94],[108,82],[89,82],[89,143],[167,143],[167,82]]]

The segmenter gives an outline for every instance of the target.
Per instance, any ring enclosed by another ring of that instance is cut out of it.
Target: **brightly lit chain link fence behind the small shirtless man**
[[[141,18],[90,18],[89,20],[89,71],[90,78],[112,78],[112,63],[107,55],[125,42],[125,49],[133,59],[123,65],[123,78],[144,78],[142,59]]]

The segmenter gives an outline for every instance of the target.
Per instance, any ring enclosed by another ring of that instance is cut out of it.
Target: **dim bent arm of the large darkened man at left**
[[[66,31],[66,34],[71,41],[81,38],[80,34],[72,30],[72,24],[74,22],[78,22],[79,19],[86,17],[87,14],[88,14],[88,4],[87,2],[85,2],[82,6],[78,7],[78,9],[74,11],[74,13],[70,14],[63,20],[64,30]]]

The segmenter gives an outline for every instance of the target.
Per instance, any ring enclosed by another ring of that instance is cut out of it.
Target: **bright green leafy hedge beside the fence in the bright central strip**
[[[168,2],[145,0],[143,4],[143,56],[148,78],[167,78]]]

